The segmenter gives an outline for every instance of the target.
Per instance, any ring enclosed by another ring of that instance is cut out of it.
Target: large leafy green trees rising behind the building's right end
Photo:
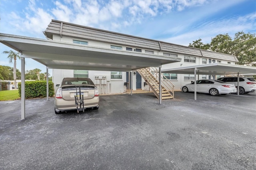
[[[209,44],[204,44],[201,41],[201,39],[198,39],[189,43],[188,46],[235,55],[238,59],[236,64],[256,67],[255,34],[238,32],[235,34],[234,40],[228,34],[219,34],[212,38]]]

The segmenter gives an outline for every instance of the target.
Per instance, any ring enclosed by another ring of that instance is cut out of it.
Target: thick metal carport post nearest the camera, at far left
[[[21,120],[25,119],[25,58],[21,58]]]

